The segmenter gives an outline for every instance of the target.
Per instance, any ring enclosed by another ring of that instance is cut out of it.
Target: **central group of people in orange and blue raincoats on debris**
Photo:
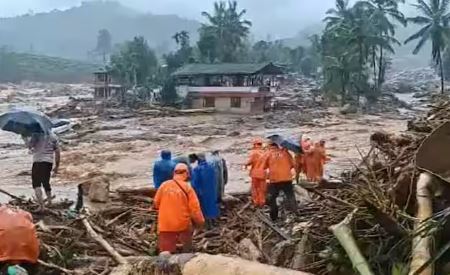
[[[256,207],[267,205],[272,221],[278,219],[277,198],[283,192],[290,211],[295,212],[293,172],[297,182],[300,175],[317,182],[322,179],[324,164],[328,161],[325,141],[313,144],[309,138],[300,140],[302,153],[293,157],[277,143],[261,138],[253,140],[248,161],[252,201]],[[158,211],[159,251],[174,253],[192,249],[194,229],[217,223],[224,187],[228,180],[226,161],[217,151],[210,156],[191,154],[187,158],[172,159],[171,152],[163,150],[154,164],[153,181],[157,188],[154,208]]]

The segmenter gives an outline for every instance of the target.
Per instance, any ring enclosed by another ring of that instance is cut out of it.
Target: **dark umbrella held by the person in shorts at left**
[[[49,134],[52,122],[43,113],[28,110],[14,110],[0,115],[0,128],[23,136]]]

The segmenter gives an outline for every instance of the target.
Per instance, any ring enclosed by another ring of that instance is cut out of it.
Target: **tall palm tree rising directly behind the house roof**
[[[200,33],[213,34],[217,40],[220,61],[235,61],[236,54],[250,33],[252,23],[243,19],[247,11],[238,11],[236,1],[214,3],[214,12],[202,12],[208,24],[202,26]]]

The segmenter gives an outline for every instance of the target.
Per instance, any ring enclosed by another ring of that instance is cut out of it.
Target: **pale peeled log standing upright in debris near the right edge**
[[[424,221],[428,220],[433,215],[433,202],[431,185],[433,184],[433,176],[430,173],[421,173],[417,180],[417,221],[416,229],[421,227]],[[417,271],[431,260],[431,245],[432,236],[418,234],[413,239],[411,252],[411,267],[409,269],[410,275],[416,275]],[[433,265],[430,264],[427,268],[420,272],[420,275],[433,275]]]

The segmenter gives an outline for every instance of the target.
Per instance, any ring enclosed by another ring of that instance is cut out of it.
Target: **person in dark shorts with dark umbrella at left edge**
[[[58,173],[60,149],[58,139],[52,132],[53,123],[37,111],[12,110],[0,115],[0,128],[21,135],[30,152],[33,154],[31,171],[32,185],[39,208],[44,207],[42,187],[51,203],[52,189],[50,176]]]

